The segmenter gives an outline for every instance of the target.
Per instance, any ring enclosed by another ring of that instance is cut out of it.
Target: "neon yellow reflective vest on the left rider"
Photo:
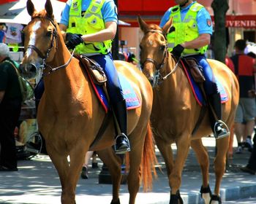
[[[102,18],[102,6],[105,0],[92,0],[85,15],[82,17],[82,0],[72,0],[69,10],[68,33],[72,34],[94,34],[105,29]],[[75,52],[82,53],[102,53],[110,52],[112,40],[104,42],[84,42],[75,47]]]

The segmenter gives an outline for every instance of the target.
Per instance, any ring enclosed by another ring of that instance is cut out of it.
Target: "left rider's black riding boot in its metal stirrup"
[[[129,139],[127,137],[127,103],[125,99],[113,104],[113,110],[121,130],[121,134],[116,136],[115,151],[116,154],[124,154],[130,151]]]

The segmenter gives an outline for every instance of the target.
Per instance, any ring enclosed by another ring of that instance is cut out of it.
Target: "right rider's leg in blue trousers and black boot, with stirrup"
[[[223,122],[222,119],[222,103],[220,95],[217,91],[217,84],[214,79],[214,74],[211,70],[210,65],[208,64],[204,55],[197,56],[197,61],[200,63],[200,66],[203,67],[203,74],[206,78],[204,84],[206,95],[208,97],[208,103],[211,106],[210,108],[210,122],[211,128],[214,132],[215,138],[223,138],[230,135],[230,132]]]

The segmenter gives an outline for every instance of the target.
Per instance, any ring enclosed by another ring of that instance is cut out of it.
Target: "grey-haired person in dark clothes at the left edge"
[[[14,130],[20,117],[21,93],[7,44],[0,43],[0,171],[17,171]]]

